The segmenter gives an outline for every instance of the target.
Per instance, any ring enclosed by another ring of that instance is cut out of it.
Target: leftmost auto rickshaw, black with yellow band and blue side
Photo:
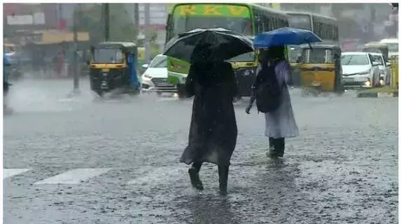
[[[103,42],[91,49],[90,89],[99,96],[119,90],[120,94],[138,95],[141,82],[137,73],[138,50],[130,42]]]

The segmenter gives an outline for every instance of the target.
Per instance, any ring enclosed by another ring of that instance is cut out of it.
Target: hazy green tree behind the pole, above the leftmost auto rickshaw
[[[104,39],[104,13],[102,4],[85,4],[81,10],[76,9],[74,16],[78,17],[78,30],[90,33],[92,43]],[[138,33],[131,17],[122,3],[111,3],[109,6],[109,37],[114,41],[135,41]]]

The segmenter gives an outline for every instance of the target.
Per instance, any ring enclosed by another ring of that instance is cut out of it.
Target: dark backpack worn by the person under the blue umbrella
[[[256,77],[255,100],[258,111],[273,112],[281,105],[282,88],[276,78],[276,63],[271,66],[262,66]]]

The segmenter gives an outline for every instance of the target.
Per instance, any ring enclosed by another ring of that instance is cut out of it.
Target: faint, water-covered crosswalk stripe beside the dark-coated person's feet
[[[163,182],[170,182],[183,177],[186,174],[185,167],[157,167],[150,172],[141,174],[140,177],[136,177],[127,182],[127,184],[145,185],[145,184],[163,184]]]

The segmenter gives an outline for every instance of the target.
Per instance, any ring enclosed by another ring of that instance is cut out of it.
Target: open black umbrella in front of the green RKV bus
[[[194,50],[196,53],[198,48],[202,48],[199,46],[207,46],[213,60],[227,60],[253,52],[252,44],[252,40],[246,36],[227,29],[194,29],[180,33],[170,40],[165,47],[164,55],[191,61]]]

